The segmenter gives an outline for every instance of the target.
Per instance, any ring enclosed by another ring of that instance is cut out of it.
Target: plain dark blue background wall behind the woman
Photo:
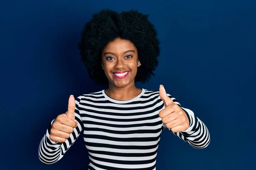
[[[150,14],[161,41],[159,66],[139,88],[167,93],[195,112],[211,143],[197,150],[164,130],[157,170],[256,169],[255,0],[9,0],[0,3],[1,170],[86,170],[81,136],[56,164],[38,159],[47,125],[70,94],[96,92],[77,43],[93,13]]]

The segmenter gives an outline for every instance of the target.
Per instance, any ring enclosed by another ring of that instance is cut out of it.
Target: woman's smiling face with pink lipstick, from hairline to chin
[[[129,40],[116,38],[102,50],[102,69],[109,85],[118,88],[134,85],[139,66],[137,48]]]

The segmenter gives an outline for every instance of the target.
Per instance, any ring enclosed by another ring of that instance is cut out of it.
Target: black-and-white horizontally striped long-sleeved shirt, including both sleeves
[[[177,99],[168,96],[181,107]],[[189,118],[189,128],[174,134],[192,147],[207,147],[207,127],[191,110],[181,108]],[[64,143],[49,139],[53,120],[40,142],[39,159],[44,164],[59,161],[82,133],[89,170],[155,170],[160,135],[166,128],[158,116],[163,109],[159,91],[142,89],[140,95],[125,101],[110,98],[105,90],[83,94],[76,99],[78,126],[70,138]]]

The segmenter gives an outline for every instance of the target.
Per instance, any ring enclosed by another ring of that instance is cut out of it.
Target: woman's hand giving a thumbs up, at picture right
[[[162,122],[166,124],[166,127],[171,129],[172,132],[187,130],[189,128],[189,119],[186,113],[167,96],[163,85],[160,85],[159,95],[165,106],[165,108],[159,112],[159,117],[162,118]]]

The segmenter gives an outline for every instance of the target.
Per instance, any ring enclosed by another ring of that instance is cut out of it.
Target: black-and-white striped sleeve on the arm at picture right
[[[210,143],[209,130],[206,125],[195,116],[195,114],[187,109],[181,107],[180,103],[170,94],[167,94],[173,102],[180,106],[189,118],[189,128],[181,132],[173,132],[176,136],[182,139],[184,142],[190,144],[197,149],[203,149]],[[165,125],[164,125],[165,127]],[[169,129],[169,128],[168,128]],[[170,130],[170,129],[169,129]]]

